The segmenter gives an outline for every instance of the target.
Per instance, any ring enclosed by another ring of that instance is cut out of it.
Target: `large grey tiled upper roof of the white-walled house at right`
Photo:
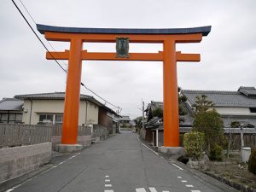
[[[195,104],[195,96],[206,95],[214,107],[256,108],[256,97],[249,97],[240,91],[222,90],[182,90],[190,105]]]

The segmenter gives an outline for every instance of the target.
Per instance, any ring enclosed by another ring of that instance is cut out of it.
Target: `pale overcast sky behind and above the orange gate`
[[[15,2],[36,29],[20,1]],[[52,26],[212,26],[212,32],[200,44],[177,45],[177,51],[201,54],[201,62],[177,62],[178,85],[184,90],[237,90],[241,85],[256,86],[255,0],[22,0],[22,3],[37,23]],[[44,47],[10,0],[0,1],[0,24],[0,98],[65,91],[65,73],[55,61],[45,59]],[[39,37],[44,40],[43,35]],[[44,43],[49,47],[45,40]],[[69,49],[66,43],[51,44],[58,51]],[[84,44],[84,49],[111,52],[115,51],[115,44]],[[130,52],[161,49],[160,44],[130,44]],[[60,62],[66,67],[67,61]],[[161,62],[83,61],[82,82],[131,118],[141,115],[142,99],[146,104],[162,101],[162,76]],[[81,93],[92,95],[83,87]]]

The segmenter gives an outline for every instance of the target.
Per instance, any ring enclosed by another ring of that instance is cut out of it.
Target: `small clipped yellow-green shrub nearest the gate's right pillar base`
[[[205,145],[204,141],[205,135],[201,132],[191,131],[184,134],[183,146],[189,157],[195,160],[199,160],[201,158]]]

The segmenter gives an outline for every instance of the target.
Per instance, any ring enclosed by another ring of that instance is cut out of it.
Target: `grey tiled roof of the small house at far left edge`
[[[3,98],[0,101],[0,111],[22,111],[24,102],[15,98]]]

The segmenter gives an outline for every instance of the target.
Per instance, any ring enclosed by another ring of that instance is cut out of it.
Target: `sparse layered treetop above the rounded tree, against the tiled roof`
[[[207,100],[206,95],[195,96],[195,104],[192,107],[195,108],[195,113],[207,111],[209,108],[212,108],[213,102]]]

